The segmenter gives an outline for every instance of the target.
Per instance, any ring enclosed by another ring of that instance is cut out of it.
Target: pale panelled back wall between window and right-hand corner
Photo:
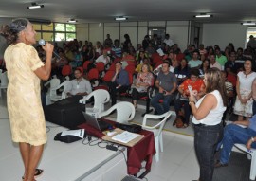
[[[151,21],[151,22],[120,22],[104,24],[87,24],[77,26],[77,39],[88,40],[95,45],[96,41],[103,43],[106,34],[110,34],[111,39],[119,39],[124,42],[124,34],[129,34],[131,42],[135,48],[141,44],[144,36],[148,34],[148,27],[165,27],[174,43],[184,50],[188,44],[188,21]]]

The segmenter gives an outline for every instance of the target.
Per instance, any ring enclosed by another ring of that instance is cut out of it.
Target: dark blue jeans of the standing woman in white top
[[[200,181],[212,180],[214,151],[222,136],[222,124],[194,126],[194,150],[200,167]]]

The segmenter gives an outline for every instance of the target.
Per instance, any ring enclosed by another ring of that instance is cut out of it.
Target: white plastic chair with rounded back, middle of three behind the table
[[[117,110],[116,121],[119,123],[127,124],[129,120],[135,118],[135,106],[128,101],[120,101],[119,103],[116,103],[108,110],[101,112],[99,118],[109,115],[114,110]]]

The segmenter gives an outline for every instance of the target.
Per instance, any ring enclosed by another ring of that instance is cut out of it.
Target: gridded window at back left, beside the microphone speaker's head
[[[77,37],[76,25],[51,23],[50,25],[34,24],[36,40],[46,41],[71,41]]]

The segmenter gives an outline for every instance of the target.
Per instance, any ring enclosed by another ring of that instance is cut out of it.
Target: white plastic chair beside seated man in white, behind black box
[[[58,100],[63,100],[66,98],[66,93],[67,90],[69,88],[70,85],[70,81],[64,81],[62,84],[60,84],[57,87],[53,87],[50,88],[50,95],[49,95],[49,99],[51,101],[58,101]],[[63,88],[62,88],[63,87]],[[62,95],[58,95],[57,94],[57,90],[61,90],[62,89]]]

